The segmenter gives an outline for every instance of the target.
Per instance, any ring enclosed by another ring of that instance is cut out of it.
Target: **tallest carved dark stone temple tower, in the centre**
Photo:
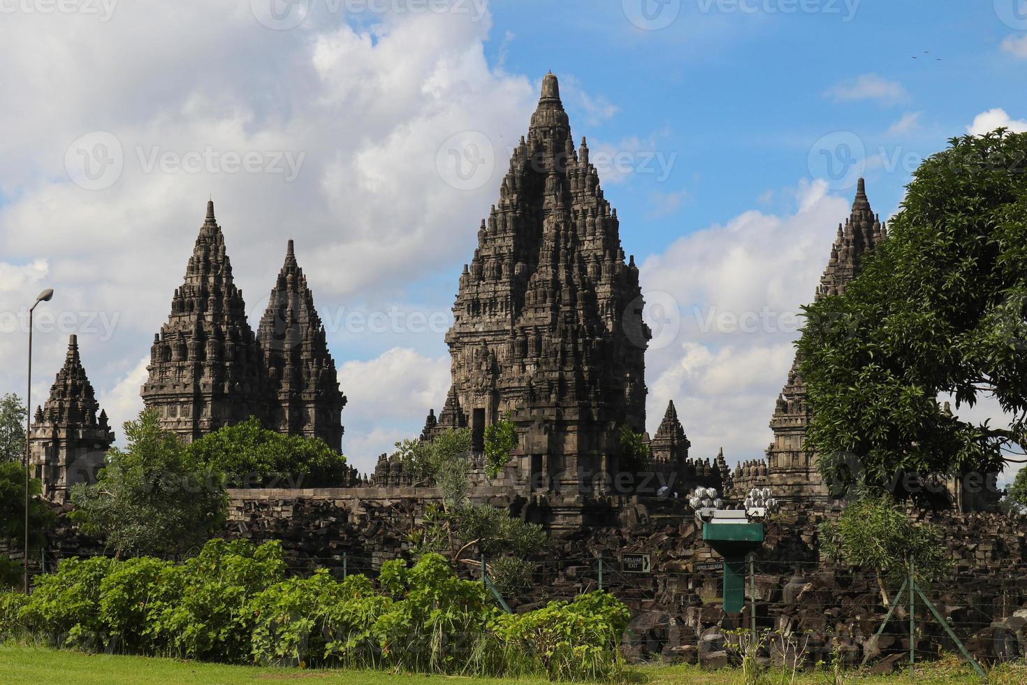
[[[439,428],[469,426],[481,450],[485,427],[509,413],[515,467],[533,490],[564,500],[607,492],[597,477],[618,468],[620,426],[645,425],[642,308],[616,211],[584,139],[574,147],[548,74],[460,276]]]

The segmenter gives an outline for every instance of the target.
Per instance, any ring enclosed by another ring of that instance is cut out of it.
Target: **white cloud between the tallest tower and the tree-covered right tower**
[[[693,454],[723,447],[729,462],[763,456],[799,335],[796,314],[812,299],[850,201],[823,181],[800,182],[793,214],[748,211],[644,261],[655,343],[646,355],[650,431],[674,399]]]

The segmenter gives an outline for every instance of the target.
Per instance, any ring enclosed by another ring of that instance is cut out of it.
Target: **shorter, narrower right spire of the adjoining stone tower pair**
[[[342,450],[342,408],[335,360],[328,350],[325,326],[314,308],[307,278],[296,261],[293,241],[268,298],[257,332],[276,396],[268,424],[279,432],[320,437]]]

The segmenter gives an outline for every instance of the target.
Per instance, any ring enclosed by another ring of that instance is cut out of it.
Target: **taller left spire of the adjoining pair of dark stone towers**
[[[213,200],[167,322],[154,336],[147,370],[146,408],[186,441],[267,413],[261,348],[246,320],[242,291],[232,279]]]

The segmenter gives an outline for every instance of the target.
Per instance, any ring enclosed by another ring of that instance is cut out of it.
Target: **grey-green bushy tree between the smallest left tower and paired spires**
[[[124,424],[127,447],[107,453],[96,484],[72,488],[73,520],[119,556],[180,554],[224,521],[221,471],[193,459],[154,412]]]

